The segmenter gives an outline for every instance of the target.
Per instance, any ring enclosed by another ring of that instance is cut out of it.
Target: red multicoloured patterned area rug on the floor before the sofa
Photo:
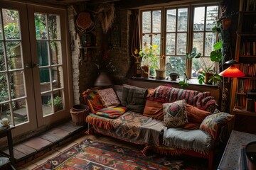
[[[89,138],[70,147],[48,162],[36,167],[39,169],[182,169],[183,162],[171,160],[159,154],[145,156],[142,152],[125,147],[93,142]]]

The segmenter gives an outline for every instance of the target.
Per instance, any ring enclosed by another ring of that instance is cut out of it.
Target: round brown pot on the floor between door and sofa
[[[85,125],[86,116],[89,114],[89,107],[87,105],[74,105],[70,109],[72,121],[74,125]]]

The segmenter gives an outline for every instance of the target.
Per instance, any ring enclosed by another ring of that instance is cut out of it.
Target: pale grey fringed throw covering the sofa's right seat
[[[208,154],[213,147],[213,138],[203,130],[166,128],[163,135],[163,145]]]

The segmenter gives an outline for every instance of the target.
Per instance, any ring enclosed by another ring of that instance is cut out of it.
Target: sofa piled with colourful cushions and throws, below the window
[[[233,115],[218,111],[210,92],[177,89],[166,84],[156,89],[112,86],[83,92],[90,107],[87,132],[145,145],[161,154],[188,154],[208,159],[213,166],[220,130]]]

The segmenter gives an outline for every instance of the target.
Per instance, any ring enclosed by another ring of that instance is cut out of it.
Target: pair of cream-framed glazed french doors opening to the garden
[[[15,135],[67,118],[65,10],[0,4],[0,113]]]

